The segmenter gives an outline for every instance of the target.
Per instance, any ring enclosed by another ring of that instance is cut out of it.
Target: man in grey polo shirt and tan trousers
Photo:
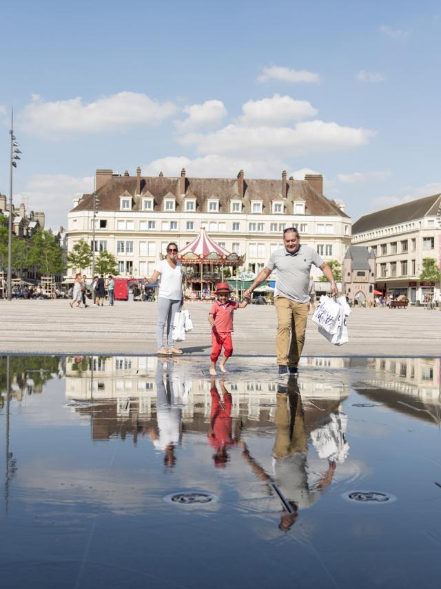
[[[252,285],[245,290],[249,297],[253,290],[277,270],[274,303],[276,305],[278,328],[276,353],[279,375],[296,375],[298,361],[305,343],[306,323],[309,310],[309,274],[312,264],[322,270],[331,282],[332,294],[336,295],[337,285],[331,268],[318,253],[300,244],[300,235],[294,227],[283,232],[283,248],[276,250],[267,266],[260,270]]]

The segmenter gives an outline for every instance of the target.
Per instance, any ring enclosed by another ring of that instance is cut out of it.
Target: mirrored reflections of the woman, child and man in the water
[[[285,512],[280,529],[288,530],[296,521],[298,510],[314,505],[331,483],[337,463],[345,461],[349,450],[345,439],[347,417],[338,410],[335,401],[325,399],[320,401],[321,409],[315,403],[308,403],[305,410],[307,400],[302,401],[297,379],[289,378],[287,386],[279,386],[276,395],[276,437],[272,472],[268,472],[252,455],[247,443],[240,440],[242,422],[232,419],[232,395],[225,382],[220,379],[217,387],[216,378],[212,377],[210,385],[212,406],[207,438],[214,449],[214,466],[225,468],[229,450],[241,446],[242,457],[254,475],[267,483],[271,495],[281,500]],[[181,381],[174,382],[172,363],[158,362],[156,391],[157,430],[150,431],[150,437],[156,449],[164,452],[165,465],[172,467],[176,462],[176,447],[181,443],[182,407],[188,394]],[[325,468],[320,464],[315,477],[308,462],[309,440],[320,463],[326,460]]]

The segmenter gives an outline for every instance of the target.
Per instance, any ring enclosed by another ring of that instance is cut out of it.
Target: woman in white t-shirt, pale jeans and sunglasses
[[[182,350],[174,347],[172,338],[174,316],[182,304],[182,266],[176,258],[177,253],[176,243],[169,243],[167,256],[156,264],[152,276],[147,281],[152,283],[160,278],[158,323],[156,324],[158,356],[182,354]],[[167,323],[167,346],[163,343],[165,323]]]

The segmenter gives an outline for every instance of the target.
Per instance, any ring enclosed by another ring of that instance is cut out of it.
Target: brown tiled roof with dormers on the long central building
[[[99,190],[99,210],[120,210],[121,197],[125,192],[132,195],[134,211],[141,211],[142,197],[154,197],[154,211],[163,210],[163,199],[171,193],[176,199],[176,212],[183,212],[184,199],[181,195],[181,178],[141,177],[141,196],[135,196],[136,176],[112,176]],[[230,200],[238,199],[239,187],[237,179],[224,178],[185,178],[185,194],[196,198],[196,213],[206,211],[207,199],[218,199],[219,212],[230,211]],[[194,196],[193,196],[194,195]],[[272,201],[283,201],[281,180],[245,179],[243,196],[243,213],[251,212],[251,201],[263,203],[263,214],[272,214]],[[334,201],[318,194],[305,180],[287,180],[287,199],[285,212],[293,214],[293,201],[305,201],[306,214],[349,216],[342,212]],[[92,194],[83,194],[79,203],[72,211],[92,210]],[[288,208],[287,208],[288,206]]]

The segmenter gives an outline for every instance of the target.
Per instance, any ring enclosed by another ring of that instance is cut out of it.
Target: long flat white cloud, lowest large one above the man
[[[365,145],[376,133],[369,129],[342,127],[338,123],[304,121],[294,128],[228,125],[216,132],[189,133],[179,139],[196,146],[202,154],[300,155],[315,151],[351,149]]]

